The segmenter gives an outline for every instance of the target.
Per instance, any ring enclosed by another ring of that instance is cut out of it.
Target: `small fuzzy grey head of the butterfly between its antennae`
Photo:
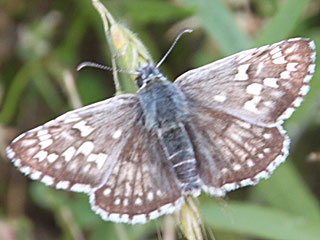
[[[138,86],[141,88],[144,85],[152,82],[154,79],[163,79],[164,75],[152,62],[138,68],[139,75],[136,78]]]

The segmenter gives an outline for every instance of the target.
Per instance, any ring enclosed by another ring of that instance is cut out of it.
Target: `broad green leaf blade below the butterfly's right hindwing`
[[[213,229],[233,231],[256,238],[279,240],[318,240],[320,222],[281,209],[228,202],[202,204],[205,222]]]

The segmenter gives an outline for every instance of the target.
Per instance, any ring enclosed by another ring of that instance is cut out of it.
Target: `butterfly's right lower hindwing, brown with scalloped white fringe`
[[[194,146],[203,190],[227,191],[268,178],[288,155],[281,126],[261,127],[211,109],[191,107],[187,131]]]

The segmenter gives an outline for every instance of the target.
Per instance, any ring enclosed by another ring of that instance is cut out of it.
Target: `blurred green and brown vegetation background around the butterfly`
[[[320,1],[102,2],[138,34],[155,61],[179,30],[194,29],[162,66],[171,80],[240,50],[290,37],[311,38],[320,49]],[[163,218],[137,226],[104,222],[90,210],[86,195],[32,182],[5,157],[6,145],[19,133],[79,106],[76,93],[84,105],[113,96],[110,72],[75,71],[84,60],[111,66],[103,25],[90,0],[0,1],[0,239],[158,239],[161,231],[167,234],[162,238],[170,236],[172,226]],[[216,239],[320,239],[319,72],[285,123],[292,140],[286,163],[270,179],[223,200],[200,197],[205,229]]]

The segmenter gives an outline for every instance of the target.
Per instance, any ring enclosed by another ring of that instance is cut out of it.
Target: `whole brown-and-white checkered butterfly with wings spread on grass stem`
[[[137,71],[136,94],[67,112],[21,134],[7,156],[25,175],[85,192],[104,220],[145,223],[187,195],[224,196],[288,155],[282,127],[309,90],[315,44],[293,38],[190,70],[173,83]]]

